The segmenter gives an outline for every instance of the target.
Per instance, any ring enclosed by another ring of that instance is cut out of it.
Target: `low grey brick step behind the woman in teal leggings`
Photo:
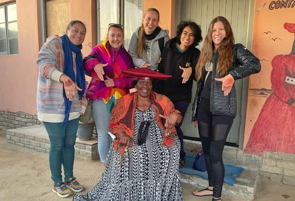
[[[49,153],[50,140],[43,124],[10,129],[6,131],[7,143],[16,144],[42,153]],[[97,138],[78,140],[75,144],[75,156],[95,160],[99,157]]]

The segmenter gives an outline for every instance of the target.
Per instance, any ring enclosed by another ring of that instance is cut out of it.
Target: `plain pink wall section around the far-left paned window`
[[[0,56],[0,110],[36,114],[39,0],[17,2],[19,54]],[[0,0],[0,5],[9,1]]]

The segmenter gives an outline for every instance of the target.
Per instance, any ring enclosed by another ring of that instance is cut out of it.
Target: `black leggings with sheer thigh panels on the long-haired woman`
[[[224,180],[222,152],[233,117],[213,115],[210,112],[210,100],[201,98],[198,108],[198,130],[204,151],[209,186],[213,188],[213,197],[221,197]]]

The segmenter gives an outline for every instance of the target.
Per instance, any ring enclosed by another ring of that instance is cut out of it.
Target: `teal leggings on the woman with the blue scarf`
[[[67,127],[64,123],[43,122],[50,139],[49,166],[54,185],[62,182],[61,164],[63,164],[65,181],[73,177],[74,145],[78,123],[79,118],[68,121]]]

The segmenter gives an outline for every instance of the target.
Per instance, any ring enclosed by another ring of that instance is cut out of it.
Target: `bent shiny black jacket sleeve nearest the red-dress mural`
[[[229,74],[237,80],[259,73],[261,70],[259,59],[242,44],[238,43],[235,46],[235,52],[233,54],[235,61],[238,62],[240,66],[230,71]]]

